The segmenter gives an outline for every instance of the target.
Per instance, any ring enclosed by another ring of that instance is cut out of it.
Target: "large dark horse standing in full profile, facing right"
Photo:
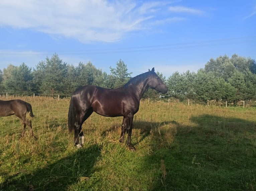
[[[120,142],[127,132],[127,145],[131,146],[132,122],[134,114],[139,110],[140,99],[148,88],[167,93],[167,87],[155,73],[154,68],[148,72],[132,78],[120,88],[106,89],[97,86],[83,86],[78,88],[71,97],[68,113],[69,132],[75,131],[74,142],[77,147],[84,143],[82,124],[94,112],[107,116],[123,116]],[[81,144],[79,143],[79,137]]]

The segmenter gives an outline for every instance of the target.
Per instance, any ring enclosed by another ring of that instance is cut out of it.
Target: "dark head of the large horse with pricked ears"
[[[148,69],[148,71],[150,72],[150,78],[148,80],[149,88],[157,90],[162,94],[166,94],[167,86],[163,83],[159,76],[157,76],[157,74],[155,73],[155,68],[152,68],[151,71]]]

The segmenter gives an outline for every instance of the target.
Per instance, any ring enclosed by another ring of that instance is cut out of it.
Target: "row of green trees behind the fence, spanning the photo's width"
[[[132,73],[121,59],[116,67],[110,67],[110,74],[97,69],[91,62],[78,66],[63,62],[57,54],[46,57],[36,68],[22,63],[19,67],[9,65],[0,70],[0,92],[17,94],[55,94],[70,95],[78,87],[96,85],[104,88],[117,88],[127,83]],[[237,54],[210,59],[197,73],[189,70],[184,73],[174,72],[169,77],[158,76],[168,87],[166,95],[160,95],[149,89],[144,98],[161,96],[180,101],[193,99],[197,101],[256,99],[256,62]]]

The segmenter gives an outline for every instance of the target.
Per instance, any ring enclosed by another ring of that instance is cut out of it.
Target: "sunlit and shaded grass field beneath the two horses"
[[[1,191],[256,190],[255,107],[141,101],[133,152],[119,143],[122,117],[93,113],[77,149],[69,99],[15,98],[31,103],[37,140],[20,137],[16,116],[0,117]]]

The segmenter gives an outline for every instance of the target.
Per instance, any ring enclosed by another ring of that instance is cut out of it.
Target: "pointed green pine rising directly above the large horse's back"
[[[112,68],[111,66],[109,68],[111,72],[110,75],[112,76],[109,78],[111,78],[111,80],[113,79],[115,82],[113,88],[124,85],[126,82],[128,82],[132,74],[132,72],[128,73],[127,65],[121,59],[116,63],[116,68]]]

